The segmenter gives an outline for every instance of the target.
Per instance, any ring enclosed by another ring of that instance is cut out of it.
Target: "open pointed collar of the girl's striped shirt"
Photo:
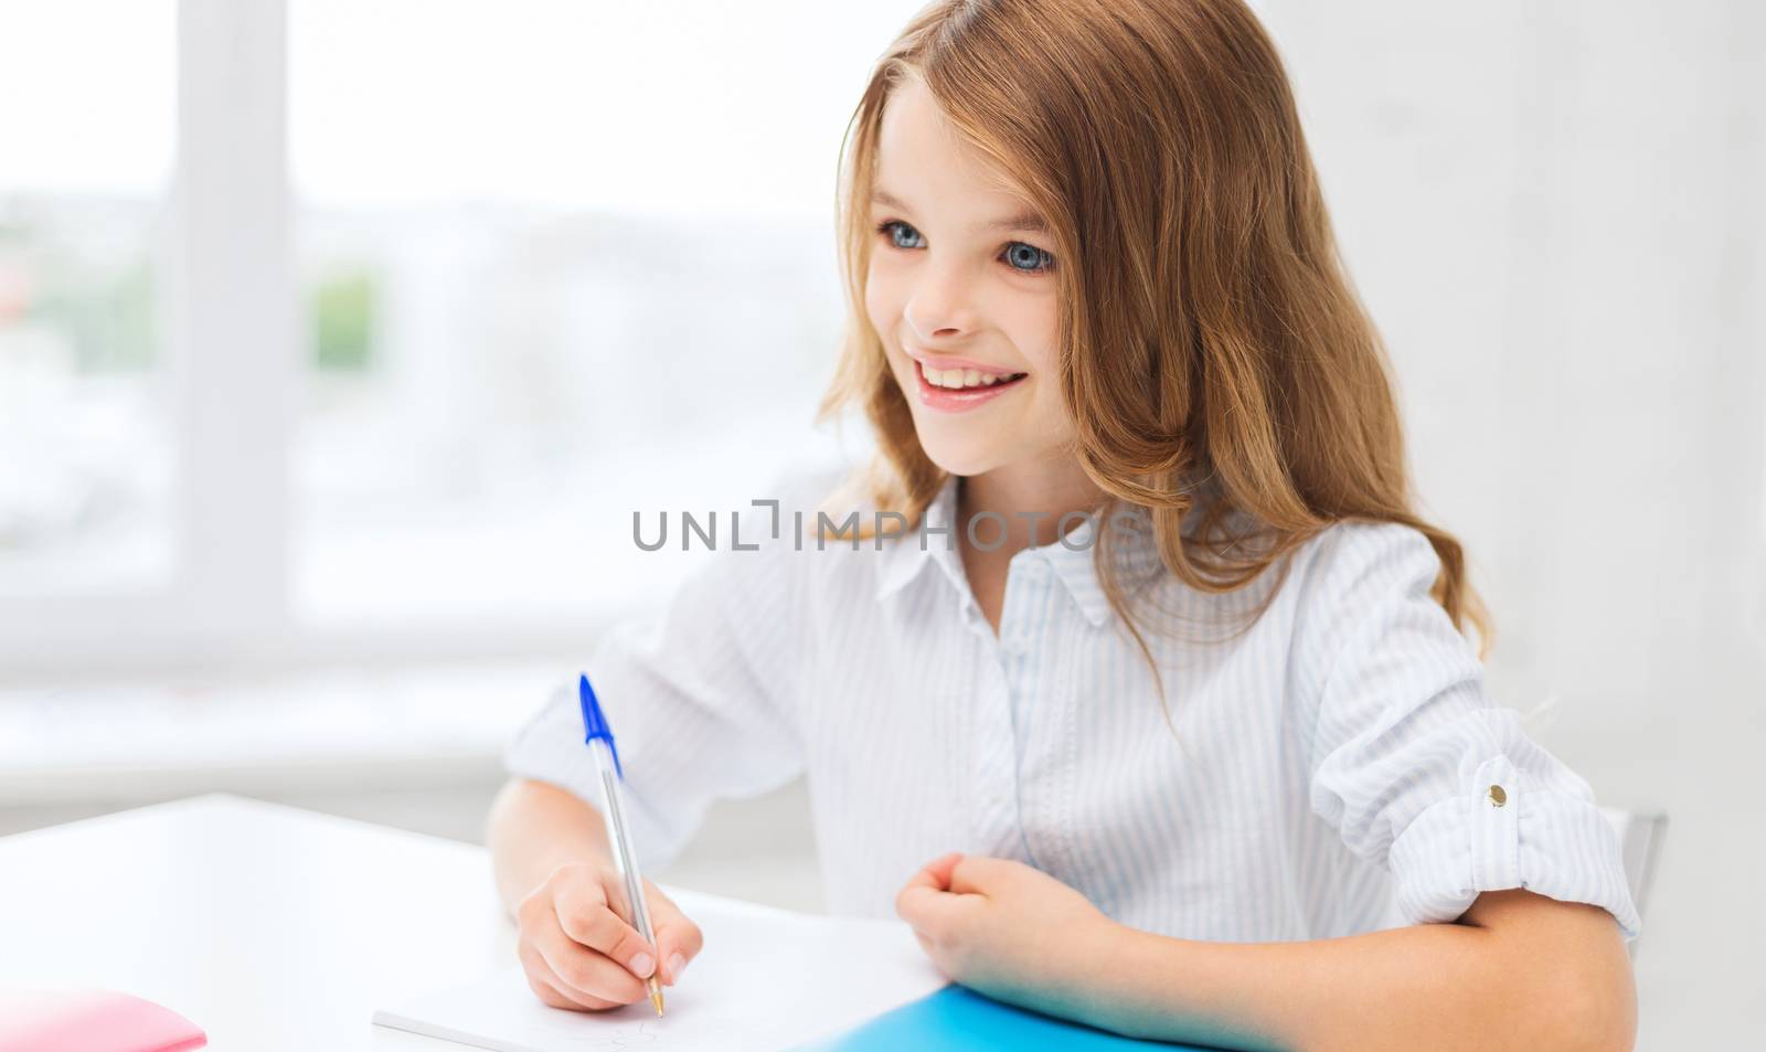
[[[957,484],[959,477],[950,475],[940,487],[938,496],[925,508],[925,530],[909,528],[902,537],[887,542],[883,565],[878,572],[878,598],[887,598],[913,581],[927,563],[936,563],[945,579],[962,597],[964,611],[975,605],[975,593],[970,588],[968,574],[962,570],[962,554],[957,551]],[[1068,597],[1084,614],[1091,627],[1100,628],[1109,623],[1113,611],[1104,588],[1097,579],[1091,551],[1098,531],[1098,514],[1086,515],[1084,522],[1067,533],[1065,538],[1024,549],[1012,556],[1012,563],[1031,560],[1045,561],[1061,581]],[[940,530],[945,530],[940,533]],[[1162,568],[1158,547],[1153,544],[1153,519],[1146,508],[1125,505],[1104,519],[1109,547],[1106,556],[1114,560],[1118,581],[1127,595],[1134,595]]]

